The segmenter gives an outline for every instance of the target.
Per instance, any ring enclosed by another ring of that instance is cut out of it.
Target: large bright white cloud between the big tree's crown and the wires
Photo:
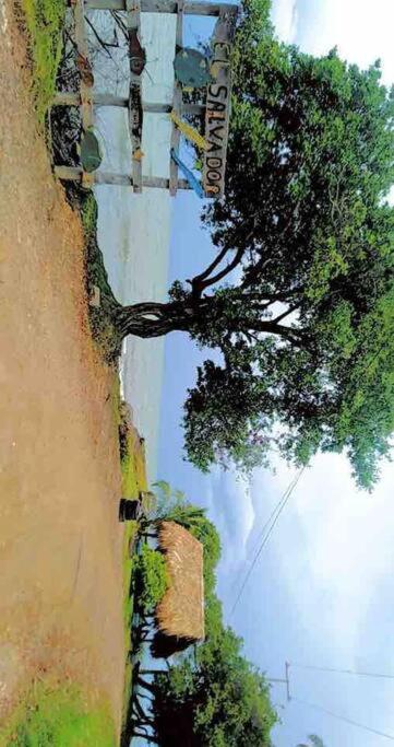
[[[317,607],[324,599],[320,625],[342,646],[346,644],[349,655],[377,585],[394,564],[393,471],[386,465],[380,485],[369,495],[355,487],[344,457],[318,456],[303,472],[270,539],[302,625],[319,634]],[[278,467],[276,477],[263,471],[255,475],[253,501],[256,504],[260,497],[265,504],[259,526],[291,475],[294,470],[285,465]]]

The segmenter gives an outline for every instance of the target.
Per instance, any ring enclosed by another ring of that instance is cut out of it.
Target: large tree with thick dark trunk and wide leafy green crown
[[[201,469],[345,451],[370,488],[394,430],[393,94],[378,63],[301,54],[266,15],[243,5],[211,264],[112,318],[120,337],[179,330],[214,350],[186,402]]]

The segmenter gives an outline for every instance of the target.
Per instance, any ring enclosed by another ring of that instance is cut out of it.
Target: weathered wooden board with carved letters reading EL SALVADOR
[[[231,104],[230,48],[234,39],[237,8],[220,12],[216,22],[211,74],[207,87],[203,187],[206,197],[222,197],[225,188],[226,152]]]

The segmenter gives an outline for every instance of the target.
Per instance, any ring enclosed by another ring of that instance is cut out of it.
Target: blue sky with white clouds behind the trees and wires
[[[274,0],[272,19],[277,35],[305,51],[319,55],[337,46],[342,57],[361,67],[381,58],[384,82],[394,82],[393,0]],[[200,209],[193,195],[177,196],[169,281],[190,277],[212,256]],[[182,335],[166,340],[158,477],[206,506],[220,532],[218,593],[226,621],[244,639],[247,656],[271,677],[282,677],[285,661],[291,663],[290,703],[283,685],[272,690],[282,719],[274,744],[296,747],[311,733],[326,747],[389,744],[307,703],[394,739],[394,678],[358,678],[296,664],[394,676],[394,465],[384,466],[368,494],[356,489],[345,457],[315,457],[231,612],[264,523],[295,471],[277,462],[275,471],[255,470],[247,485],[231,471],[203,476],[182,460],[181,408],[201,360]]]

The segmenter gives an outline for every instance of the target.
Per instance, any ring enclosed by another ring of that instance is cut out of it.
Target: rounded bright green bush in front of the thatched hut
[[[163,555],[143,545],[134,560],[133,574],[138,605],[145,615],[152,615],[169,584]]]

